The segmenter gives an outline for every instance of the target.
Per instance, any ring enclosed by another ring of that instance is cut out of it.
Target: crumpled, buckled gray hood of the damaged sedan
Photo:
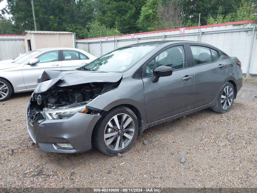
[[[122,73],[81,70],[45,70],[38,78],[35,93],[48,91],[52,86],[59,87],[86,84],[91,82],[117,82]]]

